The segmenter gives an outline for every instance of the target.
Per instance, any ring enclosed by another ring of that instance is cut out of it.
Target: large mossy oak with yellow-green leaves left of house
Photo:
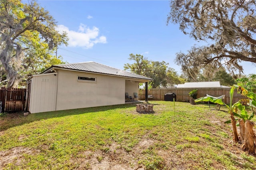
[[[17,86],[28,70],[35,73],[54,64],[51,60],[61,62],[52,49],[67,44],[67,35],[56,30],[54,18],[36,2],[0,0],[0,26],[0,61],[8,87]]]

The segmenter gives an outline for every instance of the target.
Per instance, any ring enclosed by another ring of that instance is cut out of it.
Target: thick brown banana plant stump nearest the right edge
[[[255,146],[254,146],[254,140],[255,140],[255,134],[252,129],[254,126],[254,123],[252,121],[247,120],[245,122],[245,135],[244,135],[244,146],[245,149],[248,150],[250,154],[255,153]]]

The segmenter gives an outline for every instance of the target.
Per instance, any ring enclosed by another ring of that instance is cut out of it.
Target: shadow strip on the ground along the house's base
[[[80,115],[85,113],[96,113],[101,111],[109,111],[113,109],[125,109],[134,107],[136,110],[136,103],[123,104],[123,105],[110,105],[110,106],[100,106],[100,107],[88,107],[82,109],[70,109],[63,111],[51,111],[51,112],[43,112],[43,113],[33,113],[28,116],[24,116],[23,113],[14,113],[14,114],[6,114],[4,117],[1,117],[1,127],[0,131],[7,130],[11,127],[16,127],[23,125],[25,123],[31,123],[34,121],[39,121],[42,119],[51,119],[56,117],[64,117],[70,115]]]

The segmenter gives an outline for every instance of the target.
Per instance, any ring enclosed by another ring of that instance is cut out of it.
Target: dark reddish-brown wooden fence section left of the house
[[[26,89],[1,87],[0,102],[2,102],[2,112],[24,111],[26,102]]]

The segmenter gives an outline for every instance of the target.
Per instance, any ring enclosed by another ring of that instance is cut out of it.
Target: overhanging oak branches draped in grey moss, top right
[[[206,65],[213,69],[223,65],[234,75],[243,70],[241,61],[255,64],[255,9],[255,0],[170,1],[167,24],[179,24],[184,34],[209,43],[178,53],[176,61],[192,77]]]

